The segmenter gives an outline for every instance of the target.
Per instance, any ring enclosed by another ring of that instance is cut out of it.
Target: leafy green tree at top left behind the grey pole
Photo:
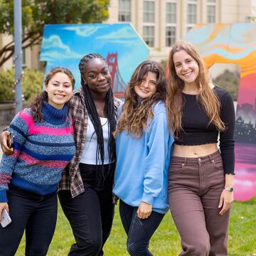
[[[110,0],[22,0],[22,48],[41,43],[46,24],[100,23]],[[14,1],[0,0],[0,33],[14,35]],[[0,49],[0,66],[14,55],[14,41]]]

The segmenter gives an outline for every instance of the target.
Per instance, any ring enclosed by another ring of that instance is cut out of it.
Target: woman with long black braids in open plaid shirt
[[[90,53],[79,63],[81,87],[70,99],[75,156],[63,171],[58,197],[75,243],[69,255],[103,255],[114,217],[112,186],[116,161],[116,110],[112,79],[102,55]],[[7,146],[1,135],[1,146]],[[8,153],[8,152],[7,152]]]

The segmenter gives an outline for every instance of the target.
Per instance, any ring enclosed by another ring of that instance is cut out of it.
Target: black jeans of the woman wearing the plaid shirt
[[[75,198],[71,198],[70,191],[58,193],[60,205],[70,222],[75,237],[75,244],[70,248],[70,256],[103,255],[102,247],[110,235],[114,218],[113,168],[109,169],[106,165],[102,172],[101,166],[99,168],[89,164],[80,164],[85,192]],[[97,171],[100,171],[100,176],[104,175],[103,183]]]

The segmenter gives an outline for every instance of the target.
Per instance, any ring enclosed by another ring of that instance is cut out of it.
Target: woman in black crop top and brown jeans
[[[228,255],[234,174],[233,100],[228,92],[210,84],[201,56],[186,41],[171,48],[167,92],[169,126],[175,135],[169,204],[181,235],[180,255]]]

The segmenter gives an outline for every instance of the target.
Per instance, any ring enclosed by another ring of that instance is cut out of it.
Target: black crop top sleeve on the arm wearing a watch
[[[225,131],[220,132],[220,153],[223,159],[225,174],[234,174],[235,169],[235,108],[229,92],[225,92],[221,99],[220,118],[225,124]]]

